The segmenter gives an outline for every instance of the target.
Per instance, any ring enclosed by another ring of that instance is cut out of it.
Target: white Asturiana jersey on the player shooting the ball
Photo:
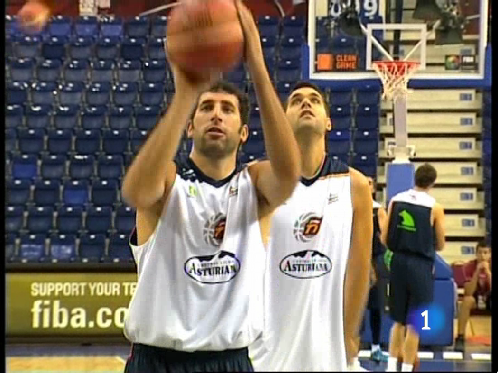
[[[146,243],[124,334],[178,351],[247,347],[263,330],[265,249],[247,168],[214,181],[190,160]]]

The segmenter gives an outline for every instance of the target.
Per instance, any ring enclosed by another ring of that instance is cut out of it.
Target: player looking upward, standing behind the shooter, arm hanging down
[[[307,82],[287,100],[302,173],[272,218],[265,333],[249,347],[256,371],[344,372],[353,358],[369,287],[373,201],[365,176],[326,152],[328,108]]]

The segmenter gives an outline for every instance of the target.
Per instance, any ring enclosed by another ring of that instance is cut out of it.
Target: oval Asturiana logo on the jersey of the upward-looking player
[[[314,278],[326,275],[332,261],[317,250],[302,250],[287,255],[280,261],[280,271],[294,278]]]

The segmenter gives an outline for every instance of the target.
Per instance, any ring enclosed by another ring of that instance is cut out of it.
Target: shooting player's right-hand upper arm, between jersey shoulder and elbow
[[[284,203],[292,195],[299,180],[293,174],[287,179],[277,177],[267,160],[251,163],[248,168],[258,197],[268,211]]]

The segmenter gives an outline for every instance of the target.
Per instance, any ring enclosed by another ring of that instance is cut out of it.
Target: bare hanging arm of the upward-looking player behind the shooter
[[[369,290],[372,260],[373,200],[363,174],[350,168],[353,196],[353,233],[344,286],[344,334],[358,333]],[[347,351],[348,361],[354,351]]]

